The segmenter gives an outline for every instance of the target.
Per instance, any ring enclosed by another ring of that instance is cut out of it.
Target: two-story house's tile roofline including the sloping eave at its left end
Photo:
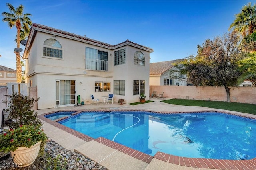
[[[90,39],[90,38],[87,38],[85,36],[81,36],[81,35],[77,35],[77,34],[74,34],[74,33],[70,33],[70,32],[67,32],[67,31],[62,31],[60,29],[56,29],[56,28],[52,28],[52,27],[48,27],[48,26],[45,26],[45,25],[40,25],[40,24],[37,24],[37,23],[33,23],[32,24],[32,27],[31,27],[31,30],[30,30],[30,34],[28,36],[28,40],[31,39],[30,41],[30,45],[28,45],[28,48],[30,49],[30,46],[32,45],[32,42],[34,40],[34,37],[36,36],[36,30],[35,31],[32,31],[32,29],[35,29],[35,28],[40,28],[40,29],[44,29],[46,31],[52,31],[52,32],[55,32],[55,33],[59,33],[59,34],[62,34],[62,35],[65,35],[65,36],[69,36],[69,37],[74,37],[74,38],[77,38],[77,39],[81,39],[81,40],[85,40],[85,41],[88,41],[90,43],[96,43],[98,45],[104,45],[105,47],[110,47],[110,49],[114,49],[114,48],[117,48],[117,47],[122,47],[124,45],[135,45],[135,46],[139,46],[139,47],[142,47],[143,49],[145,49],[146,51],[149,51],[149,52],[153,52],[153,49],[152,48],[149,48],[149,47],[146,47],[146,46],[143,46],[143,45],[140,45],[140,44],[137,44],[137,43],[134,43],[130,40],[126,40],[122,43],[119,43],[119,44],[116,44],[116,45],[111,45],[111,44],[108,44],[108,43],[104,43],[104,42],[101,42],[101,41],[97,41],[97,40],[94,40],[94,39]],[[24,55],[25,55],[26,51],[24,52]]]

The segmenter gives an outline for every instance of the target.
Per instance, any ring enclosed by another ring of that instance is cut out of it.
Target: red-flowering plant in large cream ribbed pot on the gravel
[[[11,152],[18,167],[29,166],[36,160],[39,151],[44,151],[47,136],[40,126],[20,125],[16,129],[4,129],[0,135],[0,152]]]

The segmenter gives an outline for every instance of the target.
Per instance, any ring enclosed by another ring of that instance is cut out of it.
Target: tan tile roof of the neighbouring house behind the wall
[[[150,63],[149,75],[161,76],[162,74],[164,74],[166,71],[170,70],[174,66],[173,63],[180,63],[181,61],[183,61],[183,59]]]

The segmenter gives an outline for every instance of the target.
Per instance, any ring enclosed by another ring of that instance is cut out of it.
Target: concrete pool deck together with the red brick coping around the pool
[[[151,99],[152,100],[152,99]],[[165,99],[166,100],[166,99]],[[211,170],[211,169],[234,169],[252,170],[256,169],[256,158],[251,160],[212,160],[198,158],[184,158],[158,152],[155,156],[149,156],[136,150],[124,147],[118,143],[104,138],[92,139],[78,133],[68,127],[64,127],[55,121],[43,117],[45,113],[60,110],[148,110],[160,112],[187,112],[187,111],[224,111],[256,119],[256,115],[211,109],[207,107],[180,106],[166,104],[154,99],[154,102],[139,105],[114,104],[86,104],[83,106],[68,106],[51,109],[37,110],[39,119],[44,123],[44,132],[52,140],[68,150],[76,150],[88,158],[98,162],[110,170]],[[194,166],[194,167],[193,167]]]

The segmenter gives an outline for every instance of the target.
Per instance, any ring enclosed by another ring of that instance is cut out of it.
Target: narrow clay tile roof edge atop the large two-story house
[[[93,43],[98,43],[100,45],[105,45],[107,47],[112,47],[113,48],[113,47],[116,47],[116,46],[119,46],[119,45],[122,45],[122,44],[125,44],[125,43],[131,43],[131,44],[143,47],[143,48],[149,50],[150,52],[153,52],[152,48],[149,48],[149,47],[146,47],[146,46],[134,43],[134,42],[132,42],[132,41],[130,41],[128,39],[126,41],[122,42],[122,43],[119,43],[119,44],[116,44],[116,45],[111,45],[111,44],[108,44],[108,43],[104,43],[104,42],[101,42],[101,41],[97,41],[97,40],[94,40],[94,39],[87,38],[85,36],[77,35],[77,34],[74,34],[74,33],[67,32],[67,31],[62,31],[60,29],[48,27],[48,26],[45,26],[45,25],[40,25],[40,24],[37,24],[37,23],[33,23],[31,29],[33,27],[37,27],[37,28],[41,28],[41,29],[46,29],[46,30],[53,31],[53,32],[56,32],[56,33],[61,33],[61,34],[64,34],[64,35],[68,35],[68,36],[71,36],[71,37],[76,37],[76,38],[79,38],[79,39],[84,39],[86,41],[90,41],[90,42],[93,42]],[[31,33],[31,31],[30,31],[30,33]],[[33,35],[31,35],[31,36],[33,36]]]

